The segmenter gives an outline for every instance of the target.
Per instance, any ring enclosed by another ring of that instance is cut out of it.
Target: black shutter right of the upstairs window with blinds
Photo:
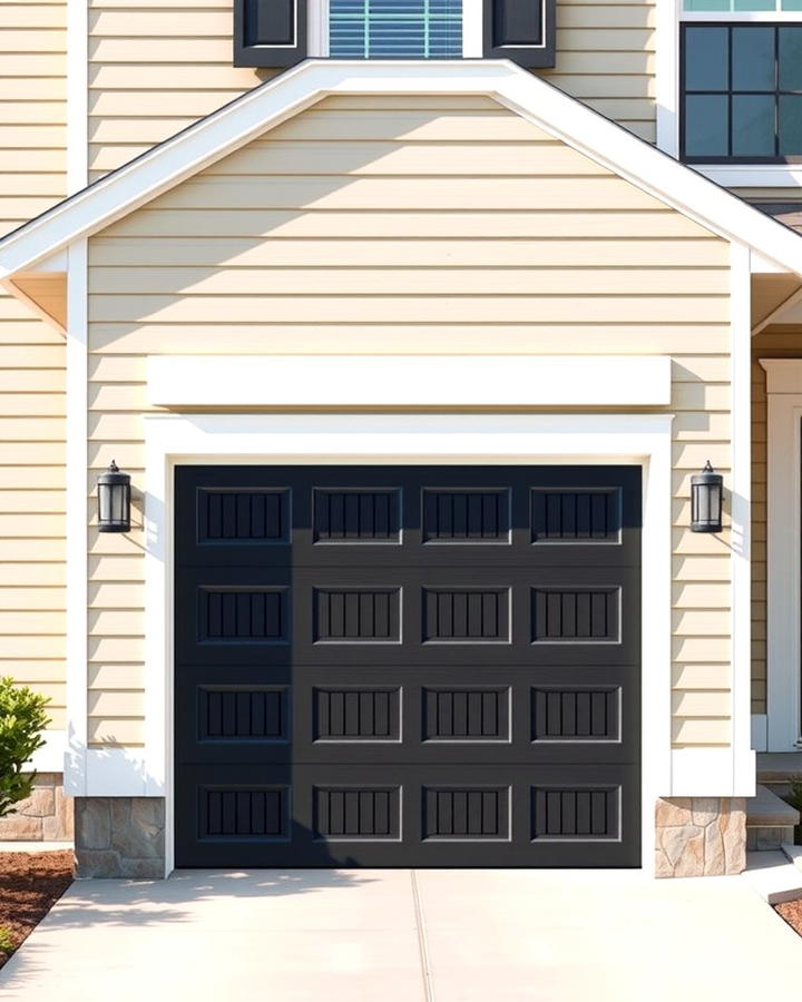
[[[556,0],[485,0],[485,58],[555,65]]]

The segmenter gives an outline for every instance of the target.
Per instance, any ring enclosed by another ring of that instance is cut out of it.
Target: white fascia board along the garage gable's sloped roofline
[[[726,239],[802,274],[802,239],[689,167],[507,60],[307,60],[0,242],[0,278],[110,225],[331,95],[483,95]]]

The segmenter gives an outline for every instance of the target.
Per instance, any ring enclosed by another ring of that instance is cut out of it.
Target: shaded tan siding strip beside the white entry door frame
[[[802,327],[752,338],[752,713],[766,711],[766,380],[759,358],[802,358]]]

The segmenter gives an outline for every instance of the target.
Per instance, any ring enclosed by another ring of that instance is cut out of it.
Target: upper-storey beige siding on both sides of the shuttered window
[[[557,87],[655,138],[655,2],[560,0]],[[232,66],[232,0],[90,0],[95,180],[274,75]]]

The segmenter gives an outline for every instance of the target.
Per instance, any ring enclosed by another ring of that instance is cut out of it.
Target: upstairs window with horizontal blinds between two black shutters
[[[329,0],[336,59],[460,59],[462,0]]]

